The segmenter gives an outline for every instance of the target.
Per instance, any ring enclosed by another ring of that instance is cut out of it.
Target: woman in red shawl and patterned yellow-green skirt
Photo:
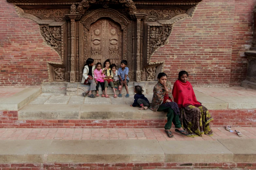
[[[180,123],[184,130],[194,136],[213,135],[210,121],[213,120],[210,112],[196,100],[195,92],[188,80],[186,71],[179,72],[179,78],[173,85],[172,95],[174,102],[179,106]]]

